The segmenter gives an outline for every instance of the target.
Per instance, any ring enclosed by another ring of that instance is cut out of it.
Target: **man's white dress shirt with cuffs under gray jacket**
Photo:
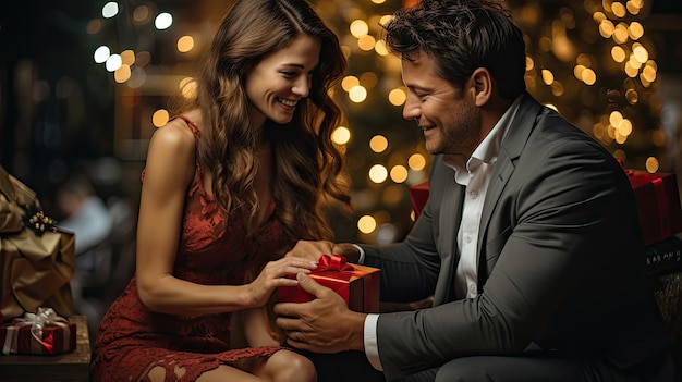
[[[454,292],[459,299],[474,298],[478,295],[476,249],[483,202],[486,198],[486,190],[488,189],[488,183],[492,175],[492,169],[497,161],[500,145],[520,104],[521,97],[516,98],[510,108],[507,109],[490,133],[488,133],[478,147],[476,147],[472,157],[466,160],[466,163],[463,163],[461,160],[458,161],[456,156],[443,156],[443,163],[454,170],[454,181],[466,187],[462,222],[458,231],[460,261],[455,272]],[[360,246],[356,247],[361,249],[358,263],[362,264],[365,259],[365,254]],[[375,369],[383,370],[381,361],[379,360],[379,348],[377,344],[378,320],[379,315],[377,313],[369,313],[365,319],[365,354],[369,363],[372,363]]]

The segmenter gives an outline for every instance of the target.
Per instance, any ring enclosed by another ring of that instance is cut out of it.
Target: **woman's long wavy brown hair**
[[[267,120],[273,147],[271,189],[285,239],[331,238],[321,209],[332,199],[350,206],[344,158],[331,140],[343,114],[331,95],[345,72],[338,37],[304,0],[238,0],[222,19],[197,76],[197,97],[190,108],[203,114],[197,156],[214,174],[214,195],[229,219],[254,226],[258,208],[254,188],[261,141],[260,126],[247,114],[244,79],[266,56],[301,35],[321,41],[319,65],[309,97],[302,99],[285,125]]]

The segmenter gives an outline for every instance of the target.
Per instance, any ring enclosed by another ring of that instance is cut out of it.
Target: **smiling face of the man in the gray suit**
[[[410,89],[403,116],[424,131],[430,153],[471,157],[482,136],[480,110],[474,104],[475,89],[462,89],[436,74],[433,57],[422,53],[402,60],[402,76]]]

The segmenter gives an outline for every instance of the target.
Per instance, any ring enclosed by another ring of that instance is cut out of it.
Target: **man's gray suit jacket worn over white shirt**
[[[478,297],[455,300],[465,189],[440,156],[429,201],[404,242],[363,246],[381,299],[434,295],[434,307],[379,317],[387,380],[531,343],[628,368],[668,334],[644,276],[628,177],[596,140],[525,95],[495,164],[478,239]]]

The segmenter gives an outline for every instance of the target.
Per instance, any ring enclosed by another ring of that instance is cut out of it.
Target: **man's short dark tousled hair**
[[[389,50],[406,60],[429,54],[437,75],[463,86],[478,67],[495,78],[499,95],[525,90],[525,41],[512,16],[495,0],[422,0],[383,25]]]

